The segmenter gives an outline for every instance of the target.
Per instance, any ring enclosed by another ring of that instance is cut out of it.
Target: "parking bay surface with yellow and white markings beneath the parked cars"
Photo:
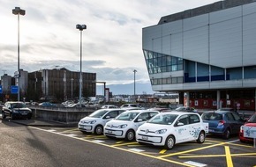
[[[223,140],[218,136],[207,135],[206,142],[186,142],[177,144],[173,149],[140,145],[138,142],[125,142],[108,138],[105,135],[84,134],[76,125],[66,125],[44,120],[4,120],[36,128],[49,133],[64,135],[75,140],[93,142],[103,147],[121,149],[142,156],[149,156],[165,162],[183,166],[256,166],[256,148],[252,143],[241,143],[238,136]]]

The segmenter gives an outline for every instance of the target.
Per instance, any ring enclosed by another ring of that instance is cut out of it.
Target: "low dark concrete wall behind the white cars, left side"
[[[95,109],[75,109],[67,110],[65,108],[31,108],[34,119],[51,120],[66,124],[79,123],[79,120],[93,113]]]

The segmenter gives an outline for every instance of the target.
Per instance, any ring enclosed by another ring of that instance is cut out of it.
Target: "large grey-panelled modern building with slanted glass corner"
[[[153,91],[178,92],[181,103],[201,109],[255,111],[255,9],[255,0],[225,0],[143,28]]]

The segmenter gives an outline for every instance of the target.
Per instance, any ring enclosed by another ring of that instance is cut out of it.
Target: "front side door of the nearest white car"
[[[174,124],[176,132],[176,142],[186,142],[191,141],[192,136],[190,135],[190,124],[189,124],[189,114],[184,114],[180,116],[177,122]]]

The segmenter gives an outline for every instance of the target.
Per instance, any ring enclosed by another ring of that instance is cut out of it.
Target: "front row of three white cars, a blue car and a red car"
[[[244,124],[256,127],[255,113],[245,123],[238,113],[230,111],[211,111],[200,115],[191,111],[123,107],[97,110],[81,119],[78,128],[82,132],[172,149],[180,142],[202,143],[207,134],[222,135],[224,139],[229,139],[230,134],[239,134],[241,142],[252,141],[245,138],[240,129]]]

